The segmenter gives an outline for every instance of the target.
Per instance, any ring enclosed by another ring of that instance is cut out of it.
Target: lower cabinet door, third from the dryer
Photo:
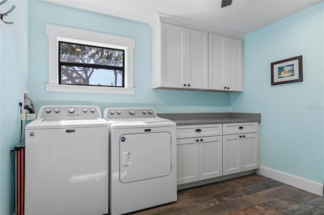
[[[223,175],[242,170],[241,139],[238,134],[223,136]]]

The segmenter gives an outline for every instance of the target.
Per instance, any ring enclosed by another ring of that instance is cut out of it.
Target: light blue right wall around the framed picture
[[[303,82],[271,86],[270,64],[300,55]],[[244,70],[231,111],[261,113],[261,166],[322,184],[324,3],[248,34]]]

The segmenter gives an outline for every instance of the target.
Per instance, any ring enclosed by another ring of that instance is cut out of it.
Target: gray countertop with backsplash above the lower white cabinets
[[[261,114],[251,113],[157,114],[157,116],[170,119],[177,125],[261,122]]]

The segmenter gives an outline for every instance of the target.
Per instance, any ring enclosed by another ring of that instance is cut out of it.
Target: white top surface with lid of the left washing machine
[[[51,128],[85,128],[107,127],[107,121],[102,118],[41,118],[26,125],[26,129]]]

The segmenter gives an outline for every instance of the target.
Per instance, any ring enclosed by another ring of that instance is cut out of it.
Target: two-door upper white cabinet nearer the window
[[[208,89],[208,33],[167,23],[160,27],[161,71],[153,75],[153,88]]]

